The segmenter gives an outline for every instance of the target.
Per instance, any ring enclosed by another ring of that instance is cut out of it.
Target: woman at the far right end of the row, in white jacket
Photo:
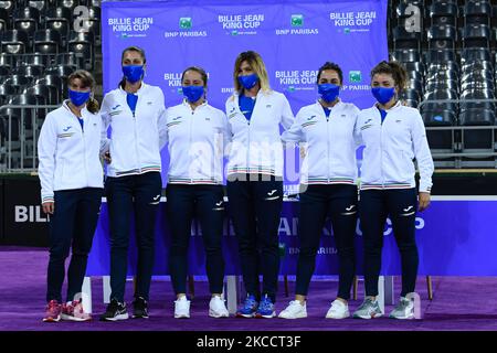
[[[401,298],[390,318],[414,318],[412,299],[419,265],[415,218],[416,211],[430,205],[434,168],[420,111],[399,101],[406,81],[405,68],[396,62],[383,61],[373,67],[371,92],[378,103],[361,110],[356,126],[364,145],[359,217],[364,244],[366,299],[353,313],[355,318],[383,314],[377,296],[388,216],[402,263]],[[419,188],[414,159],[420,171]]]

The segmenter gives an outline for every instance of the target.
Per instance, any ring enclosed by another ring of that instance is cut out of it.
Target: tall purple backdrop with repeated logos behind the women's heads
[[[201,66],[209,73],[209,103],[224,110],[233,93],[234,61],[253,50],[262,55],[272,87],[286,95],[294,114],[318,98],[317,71],[327,61],[343,71],[342,100],[366,108],[373,104],[369,72],[388,58],[387,4],[387,0],[103,2],[104,90],[114,89],[123,77],[121,51],[137,45],[147,54],[145,81],[162,88],[166,106],[182,99],[183,69]],[[286,153],[298,172],[298,153]],[[167,149],[162,163],[166,183]],[[285,180],[287,194],[298,183],[294,174]]]

